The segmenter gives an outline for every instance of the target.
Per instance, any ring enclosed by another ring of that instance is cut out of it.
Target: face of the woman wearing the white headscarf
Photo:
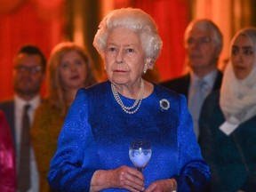
[[[237,36],[232,45],[231,61],[236,78],[244,79],[252,71],[255,50],[247,36]]]

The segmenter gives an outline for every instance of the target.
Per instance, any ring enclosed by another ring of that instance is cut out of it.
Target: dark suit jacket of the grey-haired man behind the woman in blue
[[[222,81],[222,72],[220,70],[218,70],[218,74],[215,79],[215,83],[213,84],[212,91],[220,90],[221,81]],[[185,76],[180,76],[178,78],[174,78],[172,80],[165,81],[165,82],[161,83],[160,85],[162,85],[174,92],[178,92],[180,94],[185,95],[188,100],[189,84],[190,84],[190,75],[188,73]]]

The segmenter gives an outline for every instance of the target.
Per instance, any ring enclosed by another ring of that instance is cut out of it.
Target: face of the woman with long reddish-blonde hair
[[[60,60],[60,82],[65,90],[84,86],[87,76],[86,63],[76,51],[66,52]]]

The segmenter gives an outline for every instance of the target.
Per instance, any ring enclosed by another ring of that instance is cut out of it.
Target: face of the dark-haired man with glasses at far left
[[[40,92],[43,81],[41,57],[26,53],[17,55],[13,71],[14,91],[21,97],[33,97]]]

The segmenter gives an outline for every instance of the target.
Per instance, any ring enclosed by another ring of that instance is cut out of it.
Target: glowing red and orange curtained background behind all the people
[[[12,58],[22,44],[37,44],[47,58],[61,41],[85,45],[104,78],[92,39],[101,18],[115,8],[138,7],[156,20],[164,42],[154,71],[157,81],[184,73],[183,34],[190,20],[208,18],[220,27],[224,34],[220,67],[228,59],[228,44],[236,30],[253,26],[256,20],[253,0],[0,0],[0,4],[0,100],[12,97]],[[46,94],[46,84],[42,93]]]

